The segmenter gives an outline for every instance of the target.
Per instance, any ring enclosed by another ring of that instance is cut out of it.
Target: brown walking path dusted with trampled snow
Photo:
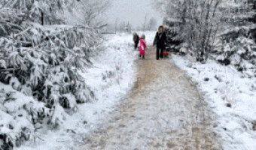
[[[123,107],[81,149],[222,149],[215,118],[184,73],[149,47]]]

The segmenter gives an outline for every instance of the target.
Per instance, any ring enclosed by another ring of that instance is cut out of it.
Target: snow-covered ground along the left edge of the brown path
[[[146,42],[153,43],[155,31],[137,33],[139,36],[145,34]],[[92,104],[77,104],[78,112],[73,115],[56,114],[63,115],[63,118],[59,118],[63,121],[59,130],[35,133],[40,139],[35,138],[35,143],[26,143],[17,150],[74,149],[82,136],[93,133],[104,124],[109,113],[126,100],[126,93],[133,87],[133,77],[136,75],[133,62],[138,51],[133,49],[132,34],[107,35],[107,39],[104,43],[107,48],[93,57],[94,68],[87,69],[86,73],[78,72],[96,95],[97,101]],[[74,106],[75,104],[72,107]]]

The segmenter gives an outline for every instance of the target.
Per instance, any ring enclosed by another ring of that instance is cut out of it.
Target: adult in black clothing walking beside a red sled
[[[157,60],[159,59],[159,49],[161,49],[160,58],[163,58],[163,50],[166,47],[166,32],[163,31],[163,26],[158,27],[153,45],[157,45]]]

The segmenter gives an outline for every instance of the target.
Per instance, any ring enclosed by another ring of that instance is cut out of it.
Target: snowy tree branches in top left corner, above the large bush
[[[71,10],[74,2],[72,0],[1,1],[0,36],[11,34],[14,30],[23,30],[27,21],[41,23],[41,25],[63,23],[62,19],[57,18],[55,13],[63,11],[64,8]]]

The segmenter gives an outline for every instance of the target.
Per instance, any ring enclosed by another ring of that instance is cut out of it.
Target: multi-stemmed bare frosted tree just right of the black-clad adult
[[[166,17],[181,20],[178,36],[188,43],[197,60],[207,59],[218,29],[219,0],[155,0]],[[206,58],[203,56],[206,55]]]

